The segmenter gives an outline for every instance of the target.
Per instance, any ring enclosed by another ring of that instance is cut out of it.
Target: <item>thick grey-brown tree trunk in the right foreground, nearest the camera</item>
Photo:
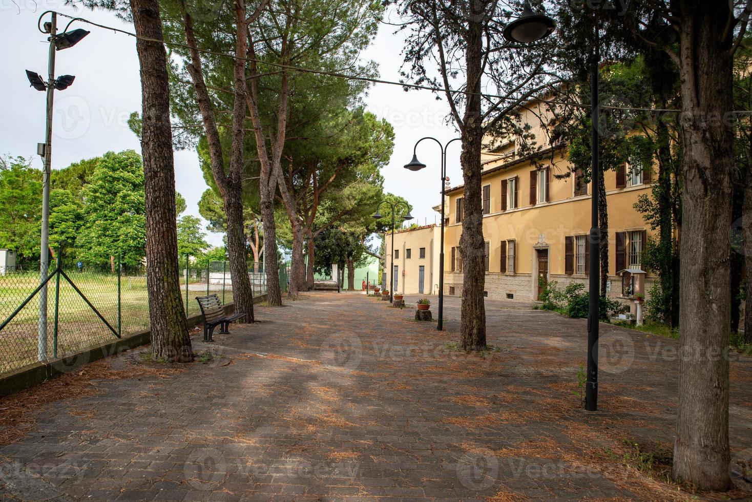
[[[727,490],[732,30],[729,2],[683,2],[680,32],[682,233],[674,479]],[[725,37],[721,34],[725,33]],[[719,231],[719,229],[722,229]]]

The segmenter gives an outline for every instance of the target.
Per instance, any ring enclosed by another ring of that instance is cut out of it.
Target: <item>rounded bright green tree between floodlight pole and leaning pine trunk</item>
[[[109,260],[112,271],[115,256],[127,265],[141,263],[146,240],[141,156],[134,150],[105,153],[82,195],[85,219],[77,240],[81,256],[100,264]]]

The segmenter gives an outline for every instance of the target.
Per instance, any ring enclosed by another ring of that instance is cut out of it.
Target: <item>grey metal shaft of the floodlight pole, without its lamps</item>
[[[50,26],[50,56],[47,75],[47,130],[44,139],[44,172],[42,174],[42,228],[41,254],[39,255],[39,280],[47,279],[50,268],[50,173],[52,161],[52,107],[55,91],[55,35],[57,33],[57,14],[52,13]],[[47,285],[39,291],[39,334],[37,340],[37,358],[47,358]]]

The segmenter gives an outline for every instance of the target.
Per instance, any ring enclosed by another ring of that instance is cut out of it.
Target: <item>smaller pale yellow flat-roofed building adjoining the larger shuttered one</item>
[[[441,228],[424,225],[394,233],[394,269],[387,277],[395,293],[403,295],[438,295],[438,255]],[[392,232],[386,234],[387,253],[392,246]],[[387,267],[392,266],[387,256]]]

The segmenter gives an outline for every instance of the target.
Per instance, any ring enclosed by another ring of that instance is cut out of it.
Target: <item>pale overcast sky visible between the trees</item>
[[[46,35],[37,29],[38,17],[47,9],[132,31],[132,26],[117,20],[114,14],[74,10],[62,0],[0,0],[5,73],[0,80],[4,112],[0,121],[0,153],[31,157],[36,168],[41,168],[41,159],[35,152],[36,144],[44,142],[45,93],[29,87],[24,70],[36,71],[47,80],[48,44]],[[65,28],[66,21],[59,18],[59,30]],[[71,26],[74,28],[88,29],[91,34],[75,47],[56,53],[56,74],[75,75],[76,80],[65,91],[55,93],[53,169],[109,150],[140,151],[137,138],[126,124],[130,113],[141,111],[135,39],[79,22]],[[362,53],[363,59],[378,63],[384,80],[399,80],[403,39],[401,35],[393,35],[393,31],[393,26],[382,25],[374,44]],[[396,134],[392,159],[382,171],[384,189],[410,202],[417,219],[414,221],[421,224],[426,220],[438,221],[431,209],[441,201],[438,145],[429,141],[420,145],[418,157],[429,166],[423,171],[414,173],[402,166],[411,159],[415,142],[423,136],[434,136],[442,143],[456,136],[453,127],[444,123],[445,101],[436,101],[429,91],[405,92],[399,86],[377,84],[371,87],[365,102],[368,110],[392,123]],[[453,186],[461,180],[459,142],[450,146],[447,174]],[[188,204],[186,212],[200,216],[197,204],[207,186],[195,150],[176,152],[175,177],[177,191]],[[220,245],[222,235],[208,234],[208,241]]]

